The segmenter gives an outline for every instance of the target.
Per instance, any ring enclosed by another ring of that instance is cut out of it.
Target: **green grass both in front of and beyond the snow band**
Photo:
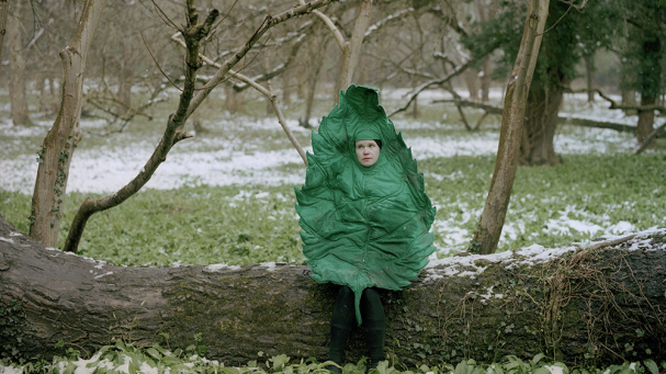
[[[256,92],[244,92],[246,105],[240,114],[221,110],[223,99],[212,95],[200,107],[199,116],[208,131],[181,141],[169,157],[187,158],[189,152],[221,149],[253,154],[291,149],[274,117],[266,114],[266,101]],[[313,117],[326,114],[330,98],[319,98]],[[140,102],[140,98],[135,98]],[[391,111],[398,102],[384,99]],[[0,95],[0,103],[7,97]],[[136,117],[122,134],[102,135],[104,128],[84,129],[78,150],[131,151],[142,144],[156,144],[166,118],[174,107],[176,95],[153,106],[154,121]],[[304,102],[284,104],[287,117],[297,118]],[[481,112],[466,110],[469,121]],[[409,144],[410,139],[462,139],[496,134],[497,116],[484,122],[481,131],[470,135],[452,105],[421,102],[419,118],[411,112],[394,120]],[[55,115],[54,115],[55,117]],[[257,118],[267,118],[257,125]],[[44,133],[46,127],[43,128]],[[589,129],[564,126],[558,133],[585,138]],[[302,145],[309,144],[309,132],[295,132]],[[485,135],[484,135],[485,134]],[[612,134],[611,134],[612,135]],[[598,141],[594,135],[592,140]],[[614,135],[613,135],[614,136]],[[511,250],[532,243],[545,247],[566,246],[589,240],[603,229],[621,222],[635,230],[666,223],[666,152],[664,140],[652,151],[640,156],[618,151],[618,141],[608,141],[605,155],[564,155],[564,163],[552,167],[520,167],[505,222],[506,238],[499,250]],[[43,137],[0,134],[3,147],[0,160],[32,157]],[[602,139],[605,140],[605,139]],[[36,155],[35,155],[36,157]],[[77,154],[75,154],[75,158]],[[481,215],[494,168],[492,156],[455,156],[419,160],[426,175],[426,190],[438,207],[433,231],[438,256],[465,250]],[[275,167],[280,173],[304,174],[301,163]],[[69,193],[63,212],[59,245],[64,241],[76,209],[88,194]],[[93,195],[94,196],[94,195]],[[0,214],[19,230],[26,233],[31,196],[0,191]],[[83,256],[113,263],[157,264],[228,263],[247,264],[263,261],[302,262],[297,217],[292,185],[280,186],[196,186],[174,191],[144,189],[118,207],[94,215],[83,234]],[[567,219],[592,227],[585,231],[557,230]],[[595,230],[594,228],[600,228]]]

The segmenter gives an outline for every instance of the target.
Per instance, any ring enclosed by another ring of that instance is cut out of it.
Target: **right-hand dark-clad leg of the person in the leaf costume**
[[[384,333],[385,317],[384,307],[380,299],[377,288],[365,288],[361,296],[361,318],[365,329],[365,342],[372,361],[371,367],[377,367],[380,361],[384,360]]]

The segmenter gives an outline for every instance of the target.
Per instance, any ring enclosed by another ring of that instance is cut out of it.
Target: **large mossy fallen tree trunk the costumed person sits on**
[[[628,240],[439,260],[382,294],[386,354],[407,365],[539,352],[567,363],[665,360],[666,228]],[[92,353],[112,338],[184,348],[201,333],[206,356],[226,365],[259,351],[323,361],[336,291],[303,265],[111,265],[44,248],[0,218],[4,355]],[[364,354],[362,341],[352,336],[349,360]]]

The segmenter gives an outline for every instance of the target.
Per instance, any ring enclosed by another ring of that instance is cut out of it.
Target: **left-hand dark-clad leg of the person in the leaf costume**
[[[342,366],[345,348],[347,348],[347,340],[354,322],[353,291],[345,285],[338,291],[338,297],[336,298],[332,316],[330,317],[330,348],[328,351],[328,359],[340,366]],[[331,372],[340,372],[335,366],[329,366],[328,369]]]

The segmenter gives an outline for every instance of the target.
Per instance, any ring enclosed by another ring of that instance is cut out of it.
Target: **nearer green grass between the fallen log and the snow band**
[[[567,156],[553,168],[518,169],[506,219],[515,238],[499,250],[532,243],[566,246],[601,233],[544,231],[551,220],[568,218],[606,227],[629,222],[637,230],[666,222],[666,156],[646,154]],[[492,157],[453,157],[419,162],[427,193],[438,206],[434,242],[445,256],[466,242],[448,245],[451,233],[471,239],[494,168]],[[281,169],[298,169],[286,166]],[[439,181],[432,175],[452,175]],[[74,214],[88,194],[66,200],[60,245]],[[176,262],[248,264],[301,262],[293,186],[196,186],[144,190],[124,204],[94,215],[83,234],[83,256],[113,263],[169,265]],[[0,212],[27,230],[30,196],[0,191]]]

